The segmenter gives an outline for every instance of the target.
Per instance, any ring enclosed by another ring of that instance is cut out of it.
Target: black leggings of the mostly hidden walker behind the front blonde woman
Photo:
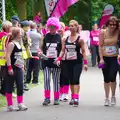
[[[68,72],[66,69],[66,64],[63,61],[61,65],[60,87],[64,87],[64,85],[69,85],[69,78],[68,78]]]

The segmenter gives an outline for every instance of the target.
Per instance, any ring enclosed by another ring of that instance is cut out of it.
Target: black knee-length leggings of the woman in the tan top
[[[104,57],[104,61],[105,67],[102,69],[104,82],[115,82],[118,71],[117,57]]]

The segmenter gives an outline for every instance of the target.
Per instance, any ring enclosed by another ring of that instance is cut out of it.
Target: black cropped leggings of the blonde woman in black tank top
[[[66,68],[70,85],[79,85],[82,67],[83,64],[80,61],[66,61]]]

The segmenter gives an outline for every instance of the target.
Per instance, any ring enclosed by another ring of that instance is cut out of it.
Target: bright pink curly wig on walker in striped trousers
[[[49,28],[50,26],[55,26],[56,29],[58,30],[60,28],[60,22],[59,19],[56,17],[50,17],[47,20],[47,24],[46,24],[47,28]]]

